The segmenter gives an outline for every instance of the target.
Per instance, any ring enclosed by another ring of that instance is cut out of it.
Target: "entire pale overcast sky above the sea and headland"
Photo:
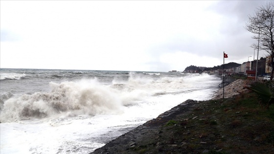
[[[256,42],[248,15],[266,3],[0,0],[0,67],[183,71],[222,65],[223,52],[242,64]]]

